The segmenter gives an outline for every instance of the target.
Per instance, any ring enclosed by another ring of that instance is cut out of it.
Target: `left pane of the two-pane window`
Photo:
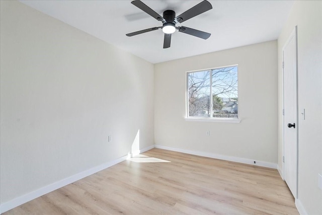
[[[189,116],[210,117],[210,70],[188,73]]]

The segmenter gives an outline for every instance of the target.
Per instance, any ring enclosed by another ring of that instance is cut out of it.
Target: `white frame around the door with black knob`
[[[283,95],[282,95],[282,99],[283,99],[283,129],[282,129],[282,137],[283,137],[283,158],[282,158],[282,178],[285,181],[285,165],[284,165],[284,156],[285,156],[285,117],[284,117],[284,108],[285,108],[285,104],[284,104],[284,99],[285,99],[285,94],[284,94],[284,50],[286,48],[286,46],[291,42],[291,40],[295,38],[295,77],[296,77],[296,118],[295,118],[295,124],[296,124],[296,194],[295,194],[295,198],[298,197],[298,51],[297,51],[297,26],[294,27],[294,30],[292,31],[292,33],[290,34],[289,38],[286,40],[283,48],[282,48],[282,88],[283,88]]]

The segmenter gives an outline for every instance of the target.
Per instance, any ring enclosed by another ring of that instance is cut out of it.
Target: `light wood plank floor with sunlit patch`
[[[291,192],[275,169],[160,149],[4,214],[213,213],[298,214]]]

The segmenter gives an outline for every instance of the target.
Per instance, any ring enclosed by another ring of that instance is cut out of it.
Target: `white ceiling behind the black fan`
[[[21,2],[152,63],[275,40],[294,3],[209,1],[212,10],[176,26],[209,32],[210,38],[204,40],[177,31],[172,35],[171,47],[164,49],[162,29],[125,36],[126,33],[162,26],[162,22],[132,5],[130,0]],[[201,0],[142,2],[159,15],[165,10],[174,10],[180,15]]]

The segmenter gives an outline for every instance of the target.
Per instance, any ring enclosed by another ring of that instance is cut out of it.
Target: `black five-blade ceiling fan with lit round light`
[[[165,33],[165,39],[164,39],[163,48],[169,48],[170,44],[171,44],[171,35],[176,30],[179,30],[179,32],[189,34],[189,35],[192,35],[192,36],[195,36],[195,37],[199,37],[199,38],[202,38],[202,39],[208,39],[210,37],[210,35],[211,35],[210,33],[199,31],[199,30],[196,30],[196,29],[193,29],[193,28],[188,28],[188,27],[185,27],[185,26],[176,27],[176,24],[178,22],[183,23],[183,22],[189,20],[190,18],[193,18],[193,17],[195,17],[195,16],[197,16],[199,14],[202,14],[202,13],[212,9],[211,4],[206,0],[202,1],[198,5],[192,7],[191,9],[189,9],[188,11],[180,14],[177,17],[176,17],[176,13],[174,11],[172,11],[172,10],[167,10],[167,11],[163,12],[163,17],[162,17],[162,16],[157,14],[155,11],[150,9],[147,5],[145,5],[143,2],[141,2],[139,0],[132,1],[131,4],[133,4],[134,6],[138,7],[139,9],[141,9],[142,11],[144,11],[145,13],[147,13],[148,15],[150,15],[151,17],[153,17],[157,21],[161,21],[163,23],[163,25],[160,26],[160,27],[153,27],[153,28],[148,28],[148,29],[144,29],[144,30],[141,30],[141,31],[136,31],[136,32],[133,32],[133,33],[129,33],[129,34],[126,34],[126,36],[131,37],[131,36],[134,36],[134,35],[146,33],[146,32],[149,32],[149,31],[158,30],[158,29],[161,28],[162,31]]]

